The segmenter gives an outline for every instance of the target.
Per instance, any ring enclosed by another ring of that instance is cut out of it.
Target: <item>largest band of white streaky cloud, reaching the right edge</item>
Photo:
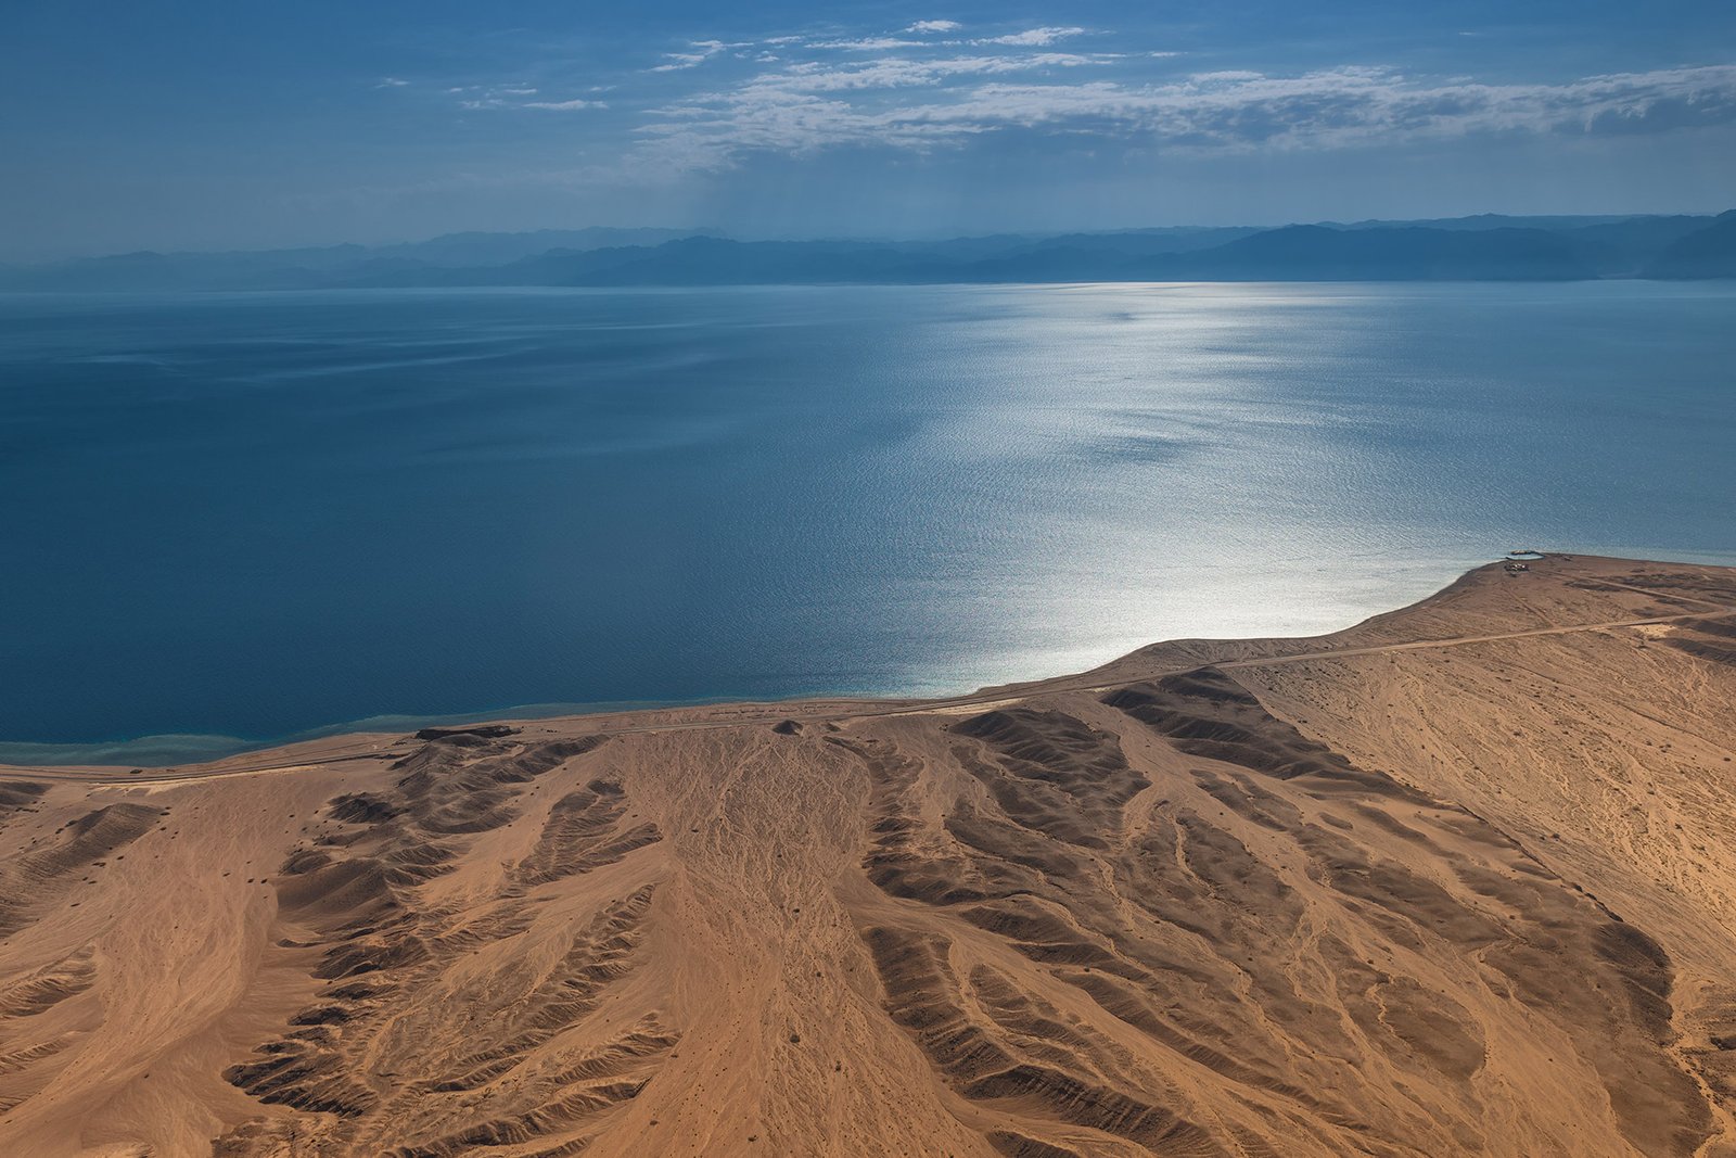
[[[753,153],[932,153],[1005,132],[1099,146],[1253,151],[1736,123],[1733,64],[1529,85],[1427,80],[1363,66],[1135,83],[1092,68],[1111,59],[977,54],[792,64],[658,109],[641,127],[639,158],[660,168],[727,168]]]

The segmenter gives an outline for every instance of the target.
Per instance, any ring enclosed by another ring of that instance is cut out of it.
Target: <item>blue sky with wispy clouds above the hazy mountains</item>
[[[1736,3],[14,3],[0,260],[1736,205]]]

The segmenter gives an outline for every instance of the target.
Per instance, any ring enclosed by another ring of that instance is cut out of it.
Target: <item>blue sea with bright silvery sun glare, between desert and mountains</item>
[[[1514,547],[1736,559],[1733,446],[1731,285],[0,299],[0,759],[957,691]]]

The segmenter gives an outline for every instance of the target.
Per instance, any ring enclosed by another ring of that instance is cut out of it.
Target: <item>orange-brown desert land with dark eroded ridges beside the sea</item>
[[[1729,1158],[1733,611],[0,769],[0,1155]]]

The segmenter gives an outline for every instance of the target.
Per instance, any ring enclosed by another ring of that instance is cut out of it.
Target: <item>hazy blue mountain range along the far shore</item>
[[[1068,281],[1583,281],[1736,276],[1720,217],[1175,226],[943,241],[738,241],[681,229],[455,233],[401,245],[118,253],[0,269],[12,292]]]

